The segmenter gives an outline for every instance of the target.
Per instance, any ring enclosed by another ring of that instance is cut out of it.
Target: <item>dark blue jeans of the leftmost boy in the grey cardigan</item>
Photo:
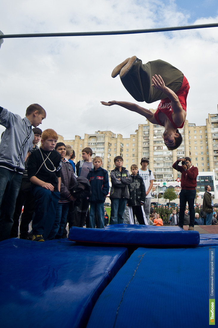
[[[0,241],[10,238],[22,174],[0,167]]]

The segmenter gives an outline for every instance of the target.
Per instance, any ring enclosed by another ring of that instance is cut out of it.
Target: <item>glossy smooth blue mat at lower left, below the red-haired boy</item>
[[[1,327],[84,328],[127,249],[12,238],[0,256]]]

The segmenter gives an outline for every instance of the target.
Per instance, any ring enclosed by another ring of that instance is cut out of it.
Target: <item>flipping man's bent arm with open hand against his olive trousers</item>
[[[186,114],[185,114],[185,111],[183,111],[183,108],[179,102],[178,96],[175,94],[174,91],[172,91],[171,89],[169,89],[168,87],[165,86],[165,83],[160,75],[155,74],[155,76],[152,76],[152,82],[153,82],[153,84],[151,85],[152,87],[164,92],[168,96],[168,98],[171,100],[172,111],[175,114],[175,115],[172,115],[173,122],[178,125],[181,125],[186,118],[186,116],[185,116]]]

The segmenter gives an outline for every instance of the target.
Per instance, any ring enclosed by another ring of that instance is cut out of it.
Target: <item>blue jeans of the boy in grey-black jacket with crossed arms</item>
[[[122,224],[127,198],[111,198],[110,224]]]

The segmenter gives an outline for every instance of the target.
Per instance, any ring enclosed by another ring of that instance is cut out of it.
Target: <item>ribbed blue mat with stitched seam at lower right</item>
[[[138,248],[99,297],[87,328],[210,327],[209,248]]]

